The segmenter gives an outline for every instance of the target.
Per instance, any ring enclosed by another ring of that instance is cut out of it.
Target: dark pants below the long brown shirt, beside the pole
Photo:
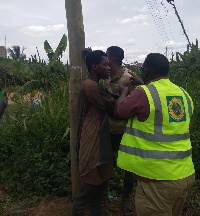
[[[74,200],[72,216],[84,216],[89,209],[91,216],[101,216],[106,190],[107,181],[101,185],[90,185],[82,182],[81,189]]]

